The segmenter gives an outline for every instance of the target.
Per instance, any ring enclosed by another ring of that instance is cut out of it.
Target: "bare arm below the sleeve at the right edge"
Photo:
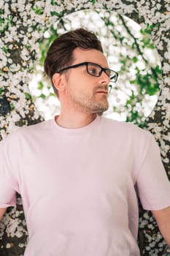
[[[152,211],[158,227],[166,243],[170,246],[170,206],[158,211]]]

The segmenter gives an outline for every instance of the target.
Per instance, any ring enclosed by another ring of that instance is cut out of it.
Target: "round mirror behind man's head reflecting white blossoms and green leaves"
[[[161,84],[161,62],[147,29],[133,20],[109,10],[81,10],[62,16],[39,42],[41,60],[34,67],[29,83],[36,108],[47,120],[60,112],[60,102],[50,81],[43,77],[43,63],[50,43],[65,31],[84,27],[93,30],[101,40],[109,67],[119,73],[112,83],[109,110],[104,116],[131,121],[142,126],[158,99]]]

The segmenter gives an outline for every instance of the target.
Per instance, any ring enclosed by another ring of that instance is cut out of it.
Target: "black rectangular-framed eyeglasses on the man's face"
[[[104,67],[101,67],[100,65],[98,65],[96,63],[88,62],[88,61],[85,61],[85,62],[82,62],[82,63],[79,63],[79,64],[75,64],[75,65],[72,65],[72,66],[69,66],[69,67],[65,67],[63,69],[58,70],[57,73],[61,73],[64,70],[74,69],[76,67],[80,67],[80,66],[84,66],[84,65],[86,66],[86,70],[87,70],[89,75],[93,75],[94,77],[99,77],[99,76],[101,76],[101,73],[104,71],[108,75],[109,79],[112,82],[115,83],[117,81],[117,77],[118,77],[117,72],[115,72],[112,69],[104,69]]]

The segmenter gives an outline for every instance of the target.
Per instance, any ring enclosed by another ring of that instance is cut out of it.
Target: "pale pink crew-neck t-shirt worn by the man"
[[[159,148],[133,124],[23,127],[0,143],[0,162],[0,208],[23,198],[25,256],[139,256],[136,193],[145,209],[170,206]]]

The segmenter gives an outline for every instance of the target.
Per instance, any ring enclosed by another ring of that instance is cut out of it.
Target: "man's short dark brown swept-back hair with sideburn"
[[[81,28],[61,34],[50,45],[45,58],[45,73],[50,77],[52,85],[55,72],[71,64],[72,52],[75,48],[96,49],[103,53],[101,42],[92,31]],[[53,89],[58,95],[58,90],[54,85]]]

